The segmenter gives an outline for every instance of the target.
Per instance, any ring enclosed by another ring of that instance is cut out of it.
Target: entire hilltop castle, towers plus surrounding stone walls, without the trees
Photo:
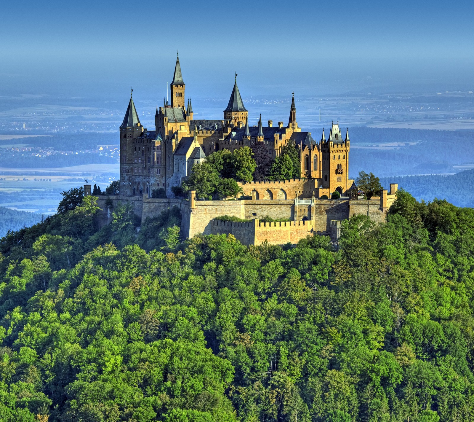
[[[330,235],[334,242],[340,222],[350,216],[367,215],[375,221],[385,219],[398,185],[382,190],[369,200],[357,196],[354,180],[349,179],[349,133],[343,137],[338,122],[332,124],[326,139],[324,130],[316,142],[310,132],[301,131],[296,122],[294,94],[288,124],[263,126],[262,118],[250,126],[248,111],[237,87],[237,75],[223,120],[196,120],[191,99],[186,101],[185,84],[179,57],[176,58],[171,104],[164,100],[156,107],[155,131],[140,123],[130,94],[127,112],[120,125],[120,195],[99,196],[101,224],[111,219],[118,202],[128,202],[141,217],[155,218],[170,207],[181,211],[182,234],[233,234],[244,244],[296,244],[308,234]],[[240,182],[244,196],[237,200],[198,201],[194,191],[188,198],[174,197],[172,188],[181,186],[196,163],[213,151],[233,151],[261,142],[269,157],[280,155],[289,142],[296,146],[301,178],[290,180]],[[166,198],[152,198],[154,189],[163,188]],[[331,199],[337,191],[340,199]],[[91,185],[84,185],[91,195]],[[220,221],[224,215],[246,221]],[[261,221],[265,216],[282,222]]]

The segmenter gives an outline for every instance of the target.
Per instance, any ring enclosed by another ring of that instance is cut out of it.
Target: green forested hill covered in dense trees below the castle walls
[[[473,420],[473,209],[399,191],[335,251],[94,201],[0,242],[1,421]]]

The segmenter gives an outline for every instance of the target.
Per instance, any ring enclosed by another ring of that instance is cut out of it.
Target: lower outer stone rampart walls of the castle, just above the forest
[[[263,182],[262,185],[268,186]],[[278,183],[274,185],[278,186]],[[283,183],[280,185],[283,185]],[[98,196],[98,205],[102,209],[98,220],[100,225],[109,224],[112,211],[119,202],[131,204],[135,214],[141,217],[142,224],[146,218],[156,218],[162,211],[176,206],[181,211],[181,231],[185,237],[193,237],[200,233],[231,233],[245,244],[261,244],[265,240],[272,244],[288,242],[295,244],[310,233],[330,234],[331,220],[342,221],[350,216],[366,215],[376,222],[383,222],[388,208],[395,200],[396,189],[397,186],[393,185],[390,194],[384,190],[381,197],[373,197],[370,200],[321,200],[311,198],[299,200],[198,201],[191,198],[156,199],[148,198],[147,195],[140,197]],[[236,222],[214,220],[216,217],[225,215],[249,219],[253,222],[237,224]],[[260,220],[265,216],[291,221],[281,223],[261,222]],[[225,232],[225,230],[228,231]]]

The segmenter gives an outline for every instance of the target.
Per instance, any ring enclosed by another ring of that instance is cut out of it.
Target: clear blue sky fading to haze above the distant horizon
[[[255,94],[308,85],[315,94],[371,86],[473,89],[472,1],[237,5],[6,2],[0,26],[3,90],[100,95],[133,85],[164,94],[178,48],[184,80],[196,95],[228,90],[235,71],[239,84]]]

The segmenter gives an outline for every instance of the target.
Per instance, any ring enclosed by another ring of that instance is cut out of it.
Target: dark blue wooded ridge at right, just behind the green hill
[[[416,199],[432,201],[446,199],[456,206],[474,207],[474,170],[465,170],[454,175],[402,176],[381,178],[387,189],[390,183],[410,192]]]

